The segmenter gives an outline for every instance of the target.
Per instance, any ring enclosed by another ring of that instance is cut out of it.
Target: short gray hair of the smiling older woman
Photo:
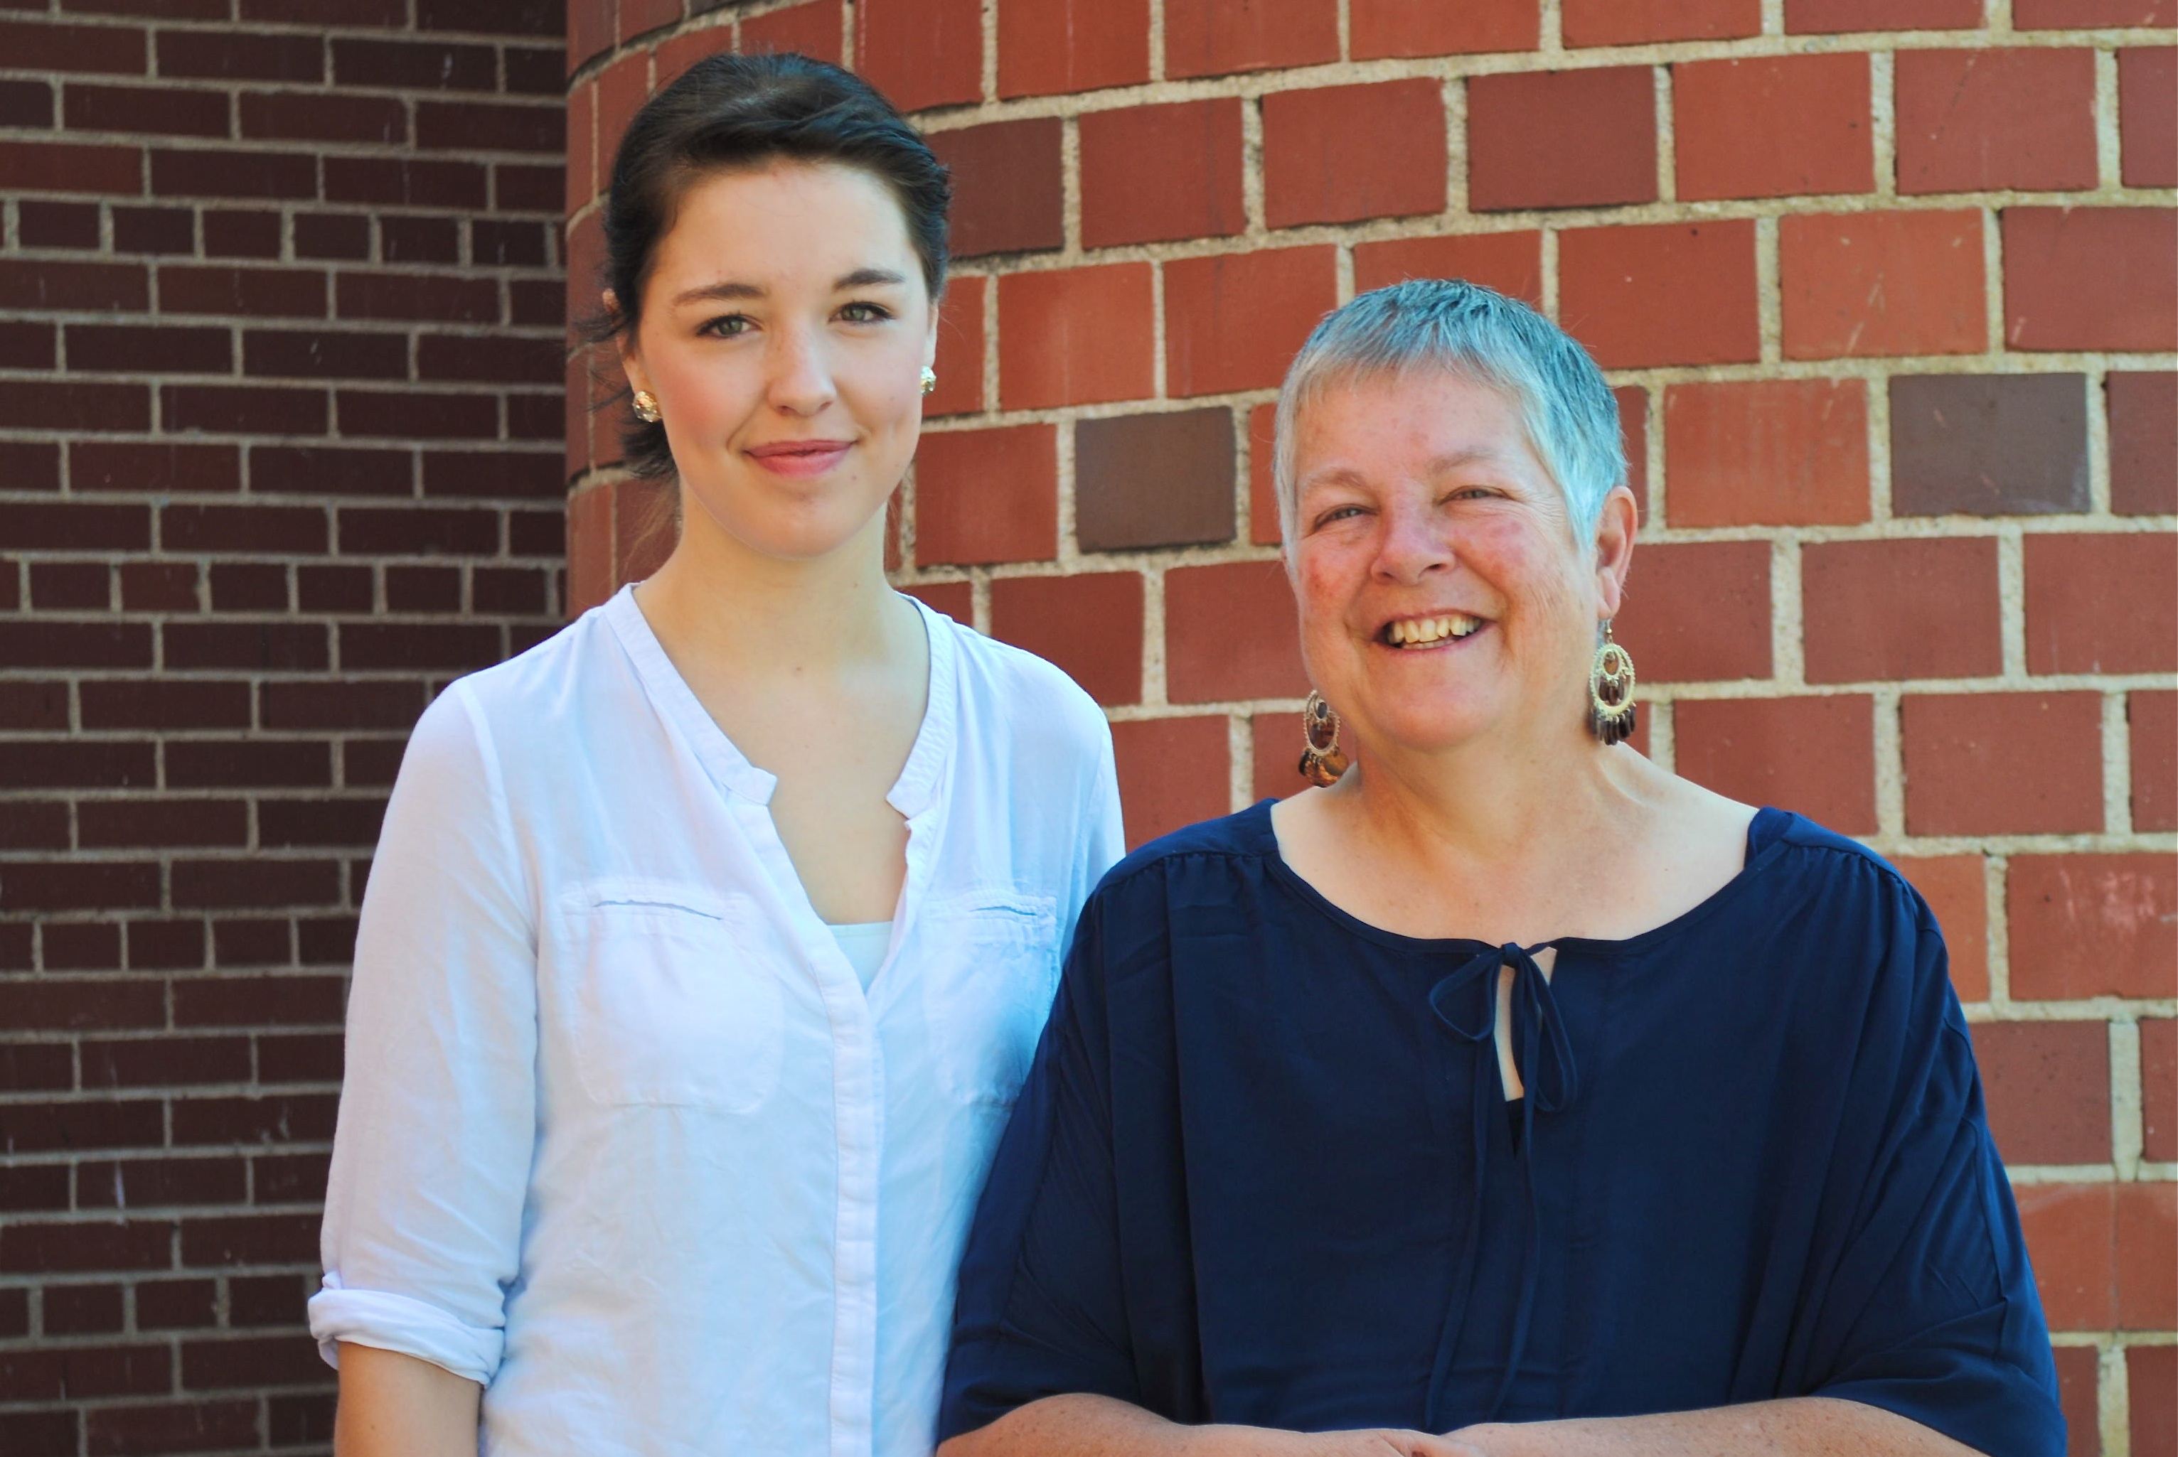
[[[1326,388],[1366,375],[1444,370],[1512,396],[1527,442],[1566,497],[1573,536],[1586,542],[1603,497],[1627,479],[1618,399],[1603,370],[1535,309],[1459,279],[1409,279],[1370,290],[1324,316],[1278,390],[1278,531],[1294,544],[1300,510],[1294,425]]]

